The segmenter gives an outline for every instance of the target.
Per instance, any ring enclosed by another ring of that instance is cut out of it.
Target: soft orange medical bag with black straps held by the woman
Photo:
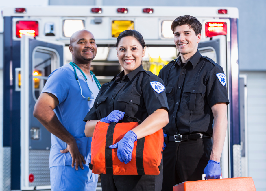
[[[164,142],[162,129],[134,142],[132,159],[128,164],[118,159],[117,148],[109,148],[138,124],[138,122],[110,124],[97,122],[91,142],[91,164],[89,164],[93,173],[114,175],[158,175],[160,173]]]

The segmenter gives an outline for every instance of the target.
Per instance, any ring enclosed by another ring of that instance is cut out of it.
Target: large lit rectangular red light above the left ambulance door
[[[27,36],[38,36],[38,21],[17,21],[16,37],[21,38],[23,34]]]

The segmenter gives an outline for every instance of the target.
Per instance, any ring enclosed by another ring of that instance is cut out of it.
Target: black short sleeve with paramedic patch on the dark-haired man
[[[207,101],[210,107],[219,102],[229,104],[226,80],[222,67],[215,66],[210,71],[206,88]]]

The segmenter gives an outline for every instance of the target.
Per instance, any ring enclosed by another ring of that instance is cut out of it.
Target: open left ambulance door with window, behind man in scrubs
[[[33,116],[34,105],[55,69],[63,65],[63,44],[21,38],[21,190],[49,189],[51,133]]]

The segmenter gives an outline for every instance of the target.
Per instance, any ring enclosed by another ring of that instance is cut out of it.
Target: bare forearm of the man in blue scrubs
[[[71,144],[75,141],[75,138],[64,128],[49,106],[39,106],[38,109],[34,111],[34,117],[36,117],[50,133],[67,144]]]

